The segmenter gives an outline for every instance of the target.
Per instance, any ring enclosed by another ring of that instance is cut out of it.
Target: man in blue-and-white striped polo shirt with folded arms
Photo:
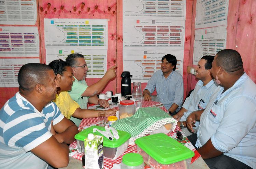
[[[78,130],[51,101],[58,87],[52,68],[25,64],[18,83],[19,92],[0,110],[0,168],[66,167],[67,144]]]

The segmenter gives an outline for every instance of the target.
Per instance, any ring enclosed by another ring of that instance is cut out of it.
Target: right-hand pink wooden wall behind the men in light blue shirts
[[[194,0],[196,4],[196,0]],[[229,0],[226,49],[237,50],[243,60],[245,72],[256,82],[256,1]],[[193,46],[195,36],[196,5],[193,5],[193,21],[191,29],[191,47],[189,65],[193,64]],[[196,65],[193,65],[196,67]],[[187,92],[195,88],[195,76],[188,76]]]

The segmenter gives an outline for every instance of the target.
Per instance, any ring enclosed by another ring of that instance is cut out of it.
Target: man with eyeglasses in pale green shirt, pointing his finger
[[[71,98],[80,105],[80,108],[87,109],[87,102],[98,104],[105,108],[109,107],[108,101],[99,99],[96,97],[96,95],[102,91],[109,80],[116,76],[115,69],[117,65],[114,65],[112,68],[106,71],[105,75],[98,82],[88,86],[85,81],[88,68],[84,55],[79,53],[70,54],[66,58],[66,62],[72,67],[75,79],[72,90],[69,91],[69,94]],[[70,119],[77,126],[79,126],[82,120],[74,117],[71,117]]]

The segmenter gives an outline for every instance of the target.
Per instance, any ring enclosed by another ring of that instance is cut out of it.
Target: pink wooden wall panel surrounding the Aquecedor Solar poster
[[[116,0],[39,0],[42,57],[45,63],[44,18],[108,19],[107,69],[116,64]],[[87,78],[91,85],[99,78]],[[112,79],[102,92],[116,91],[116,79]]]

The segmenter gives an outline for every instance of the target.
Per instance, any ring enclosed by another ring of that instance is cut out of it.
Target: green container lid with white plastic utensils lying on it
[[[102,135],[98,131],[96,131],[94,133],[93,132],[94,128],[97,128],[97,129],[102,130],[102,131],[106,131],[104,127],[91,126],[87,129],[81,131],[80,133],[76,134],[75,139],[84,141],[84,139],[88,137],[89,133],[93,133],[94,135]],[[118,140],[115,139],[115,138],[113,140],[110,140],[110,139],[106,138],[105,136],[103,136],[103,146],[110,147],[110,148],[117,148],[117,147],[121,146],[122,144],[124,144],[131,137],[131,134],[127,133],[125,131],[117,130],[117,132],[118,132],[118,135],[119,135]]]

